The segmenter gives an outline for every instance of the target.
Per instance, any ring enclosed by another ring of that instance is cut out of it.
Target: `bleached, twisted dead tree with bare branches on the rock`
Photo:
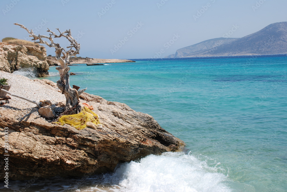
[[[56,59],[60,62],[60,66],[56,69],[59,71],[60,74],[60,80],[57,81],[58,88],[62,91],[62,94],[65,94],[66,97],[66,105],[64,107],[65,112],[67,114],[77,114],[82,111],[82,106],[79,105],[79,95],[82,94],[86,89],[82,89],[80,91],[77,91],[76,89],[71,88],[70,81],[69,81],[69,70],[70,67],[67,65],[69,63],[70,57],[74,56],[76,57],[77,54],[79,54],[80,51],[80,44],[72,37],[71,30],[66,30],[65,32],[61,32],[59,28],[57,30],[59,31],[60,35],[56,35],[53,31],[51,31],[49,28],[47,32],[50,32],[49,36],[45,35],[35,35],[33,30],[29,30],[25,26],[14,23],[15,25],[20,26],[21,28],[25,29],[30,35],[30,37],[33,37],[32,40],[34,40],[34,43],[41,43],[46,44],[49,47],[55,47],[56,51]],[[59,43],[55,43],[53,38],[60,38],[65,37],[70,42],[70,46],[67,46],[67,49],[65,50],[63,47],[60,46]],[[44,41],[43,38],[49,39],[51,42]],[[38,41],[36,41],[38,40]],[[61,55],[63,54],[63,58]]]

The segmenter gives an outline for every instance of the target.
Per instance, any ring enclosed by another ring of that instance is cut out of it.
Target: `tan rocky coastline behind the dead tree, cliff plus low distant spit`
[[[17,39],[18,40],[18,39]],[[26,44],[19,44],[19,42]],[[27,43],[28,42],[28,43]],[[60,63],[51,55],[46,54],[46,48],[34,45],[33,42],[18,40],[16,43],[0,42],[0,70],[13,73],[18,70],[29,69],[36,77],[49,75],[49,66]],[[92,59],[88,57],[71,57],[70,64],[77,63],[125,63],[135,62],[126,59]]]

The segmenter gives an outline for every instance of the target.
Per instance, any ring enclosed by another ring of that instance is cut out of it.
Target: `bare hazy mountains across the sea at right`
[[[242,38],[215,38],[177,50],[174,57],[273,55],[287,53],[287,22],[268,25]]]

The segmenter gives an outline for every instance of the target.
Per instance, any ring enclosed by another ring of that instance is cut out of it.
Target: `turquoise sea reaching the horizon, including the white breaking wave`
[[[71,66],[71,85],[152,115],[184,153],[27,191],[287,191],[286,56],[135,61]]]

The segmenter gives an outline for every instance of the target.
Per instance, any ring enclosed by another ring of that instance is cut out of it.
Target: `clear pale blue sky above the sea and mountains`
[[[286,0],[1,0],[0,39],[32,39],[13,23],[41,35],[49,35],[47,28],[56,34],[56,28],[71,29],[81,57],[162,58],[204,40],[240,38],[287,21],[286,7]]]

